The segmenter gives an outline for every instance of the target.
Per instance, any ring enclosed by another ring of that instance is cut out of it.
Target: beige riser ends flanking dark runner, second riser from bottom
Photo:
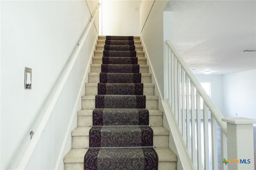
[[[158,148],[169,147],[169,135],[154,135],[153,144]],[[72,136],[72,148],[86,148],[89,146],[89,134],[88,136]]]

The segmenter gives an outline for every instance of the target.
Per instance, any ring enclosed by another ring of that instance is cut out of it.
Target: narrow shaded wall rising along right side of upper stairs
[[[140,21],[140,26],[143,26],[140,36],[147,49],[148,59],[152,63],[151,69],[155,73],[162,96],[164,93],[163,11],[167,2],[166,0],[156,0],[152,3],[152,1],[143,0],[140,8],[140,15],[144,16]],[[148,17],[144,20],[146,16]]]

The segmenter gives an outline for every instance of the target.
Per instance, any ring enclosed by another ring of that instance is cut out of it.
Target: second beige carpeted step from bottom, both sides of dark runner
[[[91,127],[77,127],[71,132],[72,148],[89,146],[89,131]],[[154,132],[153,144],[158,148],[169,147],[169,131],[164,127],[151,127]]]

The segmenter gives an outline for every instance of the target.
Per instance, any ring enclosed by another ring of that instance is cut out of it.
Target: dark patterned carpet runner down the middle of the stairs
[[[157,170],[133,37],[105,44],[84,170]]]

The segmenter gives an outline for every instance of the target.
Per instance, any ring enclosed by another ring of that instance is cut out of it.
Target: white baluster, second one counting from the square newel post
[[[217,152],[217,123],[211,114],[211,131],[212,131],[212,169],[218,169],[218,152]]]

